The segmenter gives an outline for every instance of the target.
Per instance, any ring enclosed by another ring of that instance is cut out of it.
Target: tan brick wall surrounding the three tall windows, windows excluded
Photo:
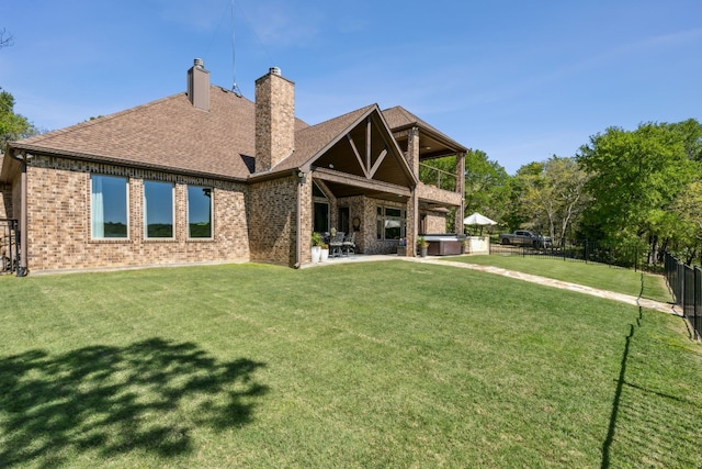
[[[90,174],[128,178],[128,237],[91,239]],[[144,236],[144,180],[173,182],[174,239]],[[213,188],[213,238],[188,239],[188,185]],[[18,185],[19,186],[19,185]],[[249,260],[247,187],[36,155],[27,168],[30,271]],[[18,202],[19,203],[19,202]]]

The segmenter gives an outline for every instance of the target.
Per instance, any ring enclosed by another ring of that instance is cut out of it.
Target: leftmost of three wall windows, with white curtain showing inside
[[[93,239],[127,237],[127,178],[90,176],[90,225]]]

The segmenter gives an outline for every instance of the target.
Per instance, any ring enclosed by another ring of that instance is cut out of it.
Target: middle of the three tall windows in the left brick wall
[[[144,236],[173,237],[173,185],[144,181]]]

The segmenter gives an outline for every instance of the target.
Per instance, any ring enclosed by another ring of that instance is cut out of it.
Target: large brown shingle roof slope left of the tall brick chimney
[[[212,86],[210,111],[185,93],[11,144],[79,158],[244,179],[256,152],[256,104]],[[296,129],[307,124],[297,120]],[[247,163],[249,166],[247,166]]]

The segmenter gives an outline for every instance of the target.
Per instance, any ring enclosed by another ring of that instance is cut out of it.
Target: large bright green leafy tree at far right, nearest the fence
[[[590,175],[589,233],[620,246],[647,244],[655,261],[661,244],[675,237],[673,202],[700,179],[701,135],[700,124],[689,120],[641,124],[632,132],[610,127],[590,137],[577,157]]]

